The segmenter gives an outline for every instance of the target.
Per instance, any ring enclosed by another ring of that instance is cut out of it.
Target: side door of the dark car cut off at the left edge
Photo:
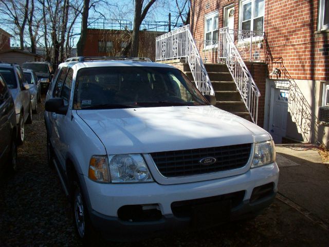
[[[0,166],[3,168],[7,154],[10,149],[10,121],[9,116],[11,115],[10,111],[10,95],[9,90],[2,78],[0,76]]]

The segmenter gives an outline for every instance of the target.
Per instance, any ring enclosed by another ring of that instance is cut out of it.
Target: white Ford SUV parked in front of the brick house
[[[148,60],[59,65],[46,97],[48,157],[82,240],[213,226],[271,204],[271,136],[207,99],[180,70]]]

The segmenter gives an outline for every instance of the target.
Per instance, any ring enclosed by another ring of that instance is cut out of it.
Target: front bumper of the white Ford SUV
[[[90,202],[90,218],[95,227],[112,240],[142,239],[191,227],[191,217],[175,217],[173,202],[197,200],[227,195],[244,191],[241,202],[230,208],[229,220],[239,220],[255,216],[274,200],[279,180],[279,168],[276,163],[248,170],[233,177],[210,181],[160,185],[153,183],[140,184],[101,184],[89,180],[84,182]],[[270,193],[259,200],[252,200],[255,187],[273,184]],[[130,222],[118,217],[118,209],[126,205],[157,204],[161,210],[161,219],[153,221]],[[122,234],[124,233],[124,234]],[[130,233],[130,234],[128,234]]]

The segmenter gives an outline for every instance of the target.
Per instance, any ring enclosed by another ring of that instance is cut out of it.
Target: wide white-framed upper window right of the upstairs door
[[[263,32],[265,12],[264,0],[243,0],[240,2],[240,6],[239,19],[241,29]]]

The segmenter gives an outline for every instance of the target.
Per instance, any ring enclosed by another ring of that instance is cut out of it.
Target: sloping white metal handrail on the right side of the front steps
[[[220,37],[221,50],[222,52],[224,51],[221,56],[225,58],[225,63],[233,77],[237,91],[239,91],[246,105],[251,120],[257,124],[258,99],[261,93],[243,61],[239,50],[235,46],[227,27],[220,28]]]

